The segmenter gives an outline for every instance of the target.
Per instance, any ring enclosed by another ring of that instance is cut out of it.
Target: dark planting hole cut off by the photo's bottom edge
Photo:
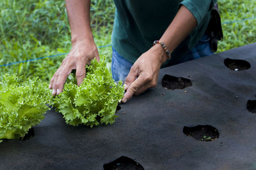
[[[144,170],[144,168],[139,164],[138,162],[135,162],[129,157],[120,157],[113,162],[110,162],[108,164],[104,164],[103,166],[104,170],[129,170],[129,169],[134,169],[134,170]]]

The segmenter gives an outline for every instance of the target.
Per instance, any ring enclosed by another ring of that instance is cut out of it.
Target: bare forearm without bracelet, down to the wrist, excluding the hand
[[[90,27],[90,0],[66,0],[72,43],[93,39]]]

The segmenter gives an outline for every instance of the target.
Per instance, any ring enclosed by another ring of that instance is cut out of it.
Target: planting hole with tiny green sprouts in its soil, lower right
[[[184,126],[183,133],[198,141],[214,141],[220,136],[218,130],[211,125],[197,125],[195,127]]]

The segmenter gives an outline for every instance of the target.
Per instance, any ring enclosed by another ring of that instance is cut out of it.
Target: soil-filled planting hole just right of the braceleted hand
[[[192,82],[188,78],[175,77],[165,74],[162,80],[162,86],[164,89],[185,89],[192,86]]]

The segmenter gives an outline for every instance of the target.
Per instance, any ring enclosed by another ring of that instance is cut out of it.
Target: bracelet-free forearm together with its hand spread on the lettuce
[[[72,48],[52,76],[49,84],[52,95],[62,92],[72,69],[76,69],[77,85],[81,85],[86,74],[86,64],[94,58],[100,59],[90,26],[90,3],[90,0],[66,0]]]

